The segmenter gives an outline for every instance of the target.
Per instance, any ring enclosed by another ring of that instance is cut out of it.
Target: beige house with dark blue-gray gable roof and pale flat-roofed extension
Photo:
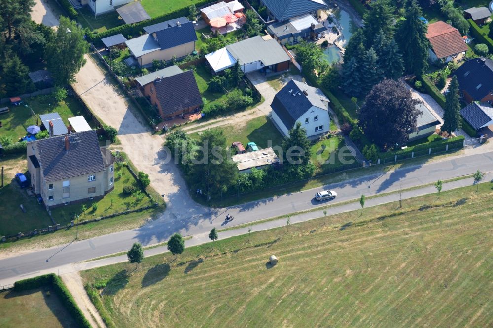
[[[146,26],[144,31],[147,34],[125,42],[139,66],[150,66],[153,60],[183,58],[195,51],[197,35],[185,17]]]

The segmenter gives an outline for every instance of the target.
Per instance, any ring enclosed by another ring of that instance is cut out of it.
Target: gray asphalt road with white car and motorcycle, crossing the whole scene
[[[438,179],[446,180],[472,174],[478,169],[482,172],[489,172],[492,171],[492,167],[493,152],[489,152],[407,167],[383,175],[361,177],[327,185],[325,188],[337,191],[338,197],[332,201],[337,203],[357,199],[363,193],[366,196],[371,196],[396,191],[399,188],[407,189],[435,182]],[[317,190],[320,189],[323,188],[317,188]],[[143,245],[163,242],[175,232],[180,232],[183,235],[199,235],[210,231],[212,227],[225,228],[228,225],[224,222],[226,213],[235,217],[234,221],[229,224],[238,225],[303,211],[328,203],[327,201],[323,203],[315,201],[313,199],[314,193],[315,190],[308,190],[226,209],[207,209],[204,211],[202,206],[199,206],[200,210],[192,207],[185,213],[183,213],[181,204],[176,205],[174,210],[174,203],[171,201],[162,218],[141,228],[0,260],[0,280],[12,277],[22,279],[23,276],[38,271],[125,251],[134,242],[140,242]],[[420,191],[416,190],[415,193],[419,195]],[[407,197],[413,197],[413,191],[407,192]],[[175,213],[175,211],[179,211],[179,213]]]

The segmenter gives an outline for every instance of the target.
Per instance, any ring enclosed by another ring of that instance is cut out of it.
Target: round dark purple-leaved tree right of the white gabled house
[[[365,135],[381,148],[403,144],[416,132],[416,109],[420,101],[413,99],[402,80],[383,80],[373,87],[360,109],[359,126]]]

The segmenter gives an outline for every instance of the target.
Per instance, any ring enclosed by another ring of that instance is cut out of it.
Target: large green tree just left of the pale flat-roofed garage
[[[235,185],[238,168],[226,152],[226,137],[222,130],[204,131],[199,141],[200,149],[195,153],[193,181],[209,197],[217,196]]]

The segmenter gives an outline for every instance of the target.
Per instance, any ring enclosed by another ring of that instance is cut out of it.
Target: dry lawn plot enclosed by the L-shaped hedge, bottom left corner
[[[78,327],[52,288],[0,292],[0,327]]]

